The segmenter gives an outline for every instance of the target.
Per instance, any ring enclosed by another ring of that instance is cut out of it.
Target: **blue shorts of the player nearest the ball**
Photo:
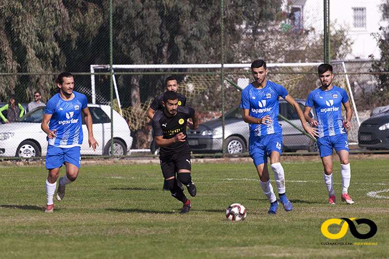
[[[267,163],[267,157],[272,151],[277,151],[281,155],[282,149],[283,135],[280,132],[264,136],[250,136],[248,138],[248,153],[255,166]]]

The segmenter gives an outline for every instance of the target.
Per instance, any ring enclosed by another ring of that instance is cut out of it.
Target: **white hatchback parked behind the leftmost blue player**
[[[88,104],[93,121],[93,136],[99,143],[96,152],[89,148],[88,129],[83,118],[84,141],[81,155],[111,154],[111,107],[109,105]],[[34,157],[45,156],[47,134],[40,128],[45,107],[28,112],[16,122],[0,125],[0,156]],[[113,155],[129,155],[133,138],[127,121],[113,111]]]

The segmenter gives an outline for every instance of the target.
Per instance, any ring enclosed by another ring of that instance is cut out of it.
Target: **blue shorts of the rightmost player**
[[[333,148],[335,148],[336,152],[339,150],[347,150],[347,152],[349,152],[349,141],[347,140],[347,134],[318,138],[318,148],[320,157],[332,155]]]

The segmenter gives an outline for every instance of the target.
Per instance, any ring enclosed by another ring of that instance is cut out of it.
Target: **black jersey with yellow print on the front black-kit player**
[[[177,114],[173,117],[168,117],[163,110],[158,110],[153,117],[154,136],[163,138],[174,138],[178,133],[182,132],[186,136],[186,124],[188,118],[192,118],[195,114],[195,109],[188,106],[178,106]],[[189,149],[188,140],[178,141],[168,147],[161,147],[159,154],[161,156],[170,154],[170,152],[180,152],[183,149]]]

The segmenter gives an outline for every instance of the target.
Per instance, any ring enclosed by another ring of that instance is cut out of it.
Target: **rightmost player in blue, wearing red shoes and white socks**
[[[334,74],[332,66],[321,64],[318,66],[318,76],[321,86],[309,93],[304,108],[305,119],[311,127],[318,129],[318,148],[321,161],[324,166],[324,182],[329,194],[329,204],[336,204],[336,197],[332,183],[332,149],[340,159],[342,167],[342,201],[346,204],[353,204],[354,201],[348,194],[350,186],[351,169],[349,162],[349,141],[347,132],[351,127],[351,110],[349,97],[346,90],[332,85]],[[342,120],[341,106],[346,109],[346,121]],[[311,108],[315,106],[317,121],[308,116]]]

